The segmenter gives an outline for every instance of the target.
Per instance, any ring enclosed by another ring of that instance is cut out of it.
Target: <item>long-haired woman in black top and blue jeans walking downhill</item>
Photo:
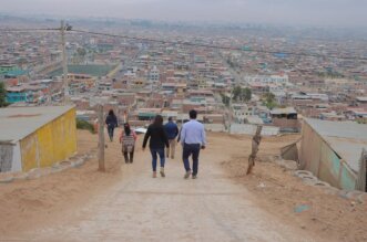
[[[151,155],[152,155],[153,178],[156,178],[157,156],[160,156],[160,160],[161,160],[161,170],[160,170],[161,177],[165,177],[164,146],[169,148],[170,144],[169,144],[169,138],[164,131],[163,117],[161,115],[156,115],[153,124],[151,124],[146,129],[143,140],[143,151],[145,150],[147,139],[150,139],[149,147],[151,149]]]

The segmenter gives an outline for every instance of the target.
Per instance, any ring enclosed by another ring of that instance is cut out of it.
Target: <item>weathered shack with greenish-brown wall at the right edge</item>
[[[345,190],[366,191],[367,125],[305,119],[299,165]]]

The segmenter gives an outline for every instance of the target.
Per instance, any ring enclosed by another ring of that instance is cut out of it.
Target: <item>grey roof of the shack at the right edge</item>
[[[305,120],[355,172],[358,172],[361,150],[367,150],[367,125],[312,118]]]

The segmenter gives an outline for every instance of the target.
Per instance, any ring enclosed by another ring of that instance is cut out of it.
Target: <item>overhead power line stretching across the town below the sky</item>
[[[60,31],[60,28],[39,28],[39,29],[0,29],[1,32],[27,32],[27,31]],[[302,52],[288,52],[288,51],[269,51],[269,50],[257,50],[257,49],[243,49],[236,46],[221,46],[221,45],[212,45],[212,44],[201,44],[201,43],[192,43],[186,41],[167,41],[167,40],[157,40],[150,38],[137,38],[137,36],[129,36],[121,34],[112,34],[112,33],[101,33],[94,31],[85,31],[85,30],[69,30],[68,32],[74,33],[86,33],[93,35],[102,35],[102,36],[111,36],[111,38],[121,38],[125,40],[134,40],[142,42],[153,42],[161,44],[181,44],[186,46],[197,46],[197,48],[207,48],[207,49],[216,49],[216,50],[227,50],[227,51],[239,51],[239,52],[252,52],[252,53],[262,53],[262,54],[282,54],[282,55],[293,55],[293,56],[303,56],[303,57],[324,57],[324,59],[338,59],[338,60],[351,60],[351,61],[367,61],[367,57],[360,56],[338,56],[338,55],[325,55],[325,54],[315,54],[315,53],[302,53]]]

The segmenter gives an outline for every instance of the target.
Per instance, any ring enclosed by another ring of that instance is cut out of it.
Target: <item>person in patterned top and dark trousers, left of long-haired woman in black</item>
[[[135,131],[130,128],[129,123],[125,123],[120,135],[120,144],[122,144],[122,154],[125,159],[125,164],[132,164],[134,161],[135,141]]]

